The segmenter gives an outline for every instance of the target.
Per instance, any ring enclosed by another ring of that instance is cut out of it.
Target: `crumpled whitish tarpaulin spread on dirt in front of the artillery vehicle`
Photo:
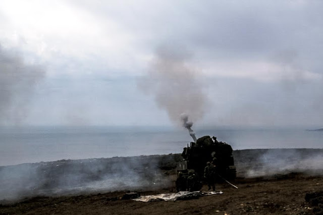
[[[167,194],[158,194],[158,195],[150,195],[150,196],[140,196],[139,198],[135,198],[135,201],[143,201],[143,202],[153,202],[153,201],[175,201],[175,200],[186,200],[198,198],[200,196],[206,195],[215,195],[222,194],[222,191],[219,192],[201,192],[201,191],[180,191],[178,193],[167,193]]]

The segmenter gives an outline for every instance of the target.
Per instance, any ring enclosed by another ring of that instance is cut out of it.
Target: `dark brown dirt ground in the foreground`
[[[168,174],[175,181],[176,171],[168,171]],[[216,190],[223,191],[223,194],[177,201],[121,200],[120,197],[126,191],[40,196],[1,204],[0,214],[322,214],[317,206],[305,200],[306,193],[323,191],[322,176],[286,173],[266,177],[238,177],[233,183],[238,189],[226,183],[217,184]],[[206,191],[206,188],[204,185],[202,191]],[[142,196],[174,193],[175,183],[163,189],[147,187],[137,191]]]

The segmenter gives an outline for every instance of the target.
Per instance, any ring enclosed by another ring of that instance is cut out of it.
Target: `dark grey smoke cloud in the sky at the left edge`
[[[18,125],[28,113],[35,84],[44,77],[39,65],[25,64],[0,45],[0,124]]]

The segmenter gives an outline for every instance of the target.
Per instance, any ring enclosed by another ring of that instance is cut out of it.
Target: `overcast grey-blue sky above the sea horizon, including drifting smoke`
[[[321,127],[322,35],[322,1],[2,0],[0,125]]]

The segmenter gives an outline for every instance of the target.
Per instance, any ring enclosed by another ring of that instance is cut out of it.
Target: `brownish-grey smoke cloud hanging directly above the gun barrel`
[[[189,65],[190,54],[183,48],[159,47],[139,87],[152,94],[171,121],[181,125],[185,113],[194,122],[204,115],[207,97],[198,71]]]

